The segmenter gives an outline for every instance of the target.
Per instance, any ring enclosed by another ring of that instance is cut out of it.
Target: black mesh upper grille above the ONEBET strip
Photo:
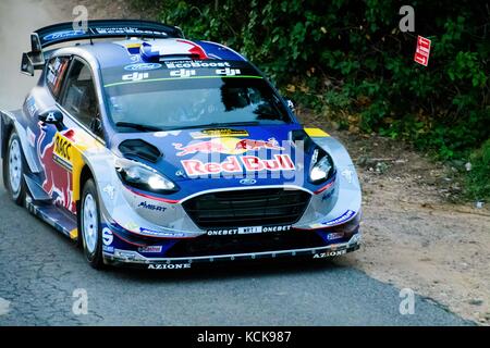
[[[310,195],[297,189],[261,188],[205,194],[183,207],[204,229],[292,225],[308,206]]]

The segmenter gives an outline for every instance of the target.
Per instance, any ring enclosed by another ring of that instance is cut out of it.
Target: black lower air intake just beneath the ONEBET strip
[[[291,231],[231,236],[199,236],[182,239],[166,252],[167,258],[255,253],[324,247],[327,243],[311,231]]]

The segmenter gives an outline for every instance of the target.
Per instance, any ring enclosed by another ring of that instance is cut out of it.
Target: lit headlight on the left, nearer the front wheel
[[[115,170],[121,181],[128,186],[158,194],[176,191],[174,183],[142,163],[118,159]]]

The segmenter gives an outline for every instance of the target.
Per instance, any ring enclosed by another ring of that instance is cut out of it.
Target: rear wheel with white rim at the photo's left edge
[[[24,172],[26,162],[22,152],[21,139],[15,130],[10,134],[5,158],[3,159],[3,183],[10,194],[10,198],[23,206],[26,196]]]

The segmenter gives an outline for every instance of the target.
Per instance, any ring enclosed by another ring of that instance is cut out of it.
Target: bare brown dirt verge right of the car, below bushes
[[[462,316],[490,322],[490,209],[450,203],[460,192],[453,170],[408,145],[332,130],[298,111],[306,124],[340,138],[363,185],[364,248],[339,262],[408,287]]]

